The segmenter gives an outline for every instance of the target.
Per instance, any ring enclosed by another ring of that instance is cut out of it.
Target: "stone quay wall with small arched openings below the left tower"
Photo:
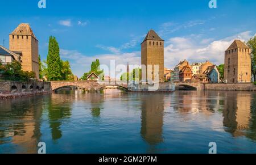
[[[51,83],[49,82],[0,82],[0,99],[13,99],[51,92]]]

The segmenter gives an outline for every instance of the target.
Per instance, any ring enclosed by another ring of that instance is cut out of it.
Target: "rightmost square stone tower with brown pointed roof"
[[[251,82],[251,50],[242,41],[235,40],[225,51],[224,79],[228,83]]]

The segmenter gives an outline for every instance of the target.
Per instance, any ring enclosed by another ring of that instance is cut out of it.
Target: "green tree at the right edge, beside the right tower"
[[[256,36],[247,41],[247,46],[251,48],[251,73],[256,82]]]

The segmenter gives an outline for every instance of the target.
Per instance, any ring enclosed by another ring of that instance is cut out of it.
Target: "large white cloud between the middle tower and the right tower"
[[[249,40],[253,35],[250,31],[238,33],[237,35],[215,40],[204,39],[196,43],[193,37],[174,37],[168,40],[164,48],[165,65],[173,68],[181,60],[190,62],[210,60],[214,64],[224,63],[224,52],[235,39]],[[212,40],[212,41],[210,41]],[[208,43],[207,45],[205,45]]]

